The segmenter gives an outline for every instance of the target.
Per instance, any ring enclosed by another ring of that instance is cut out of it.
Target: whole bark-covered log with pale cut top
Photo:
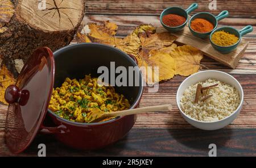
[[[84,0],[0,0],[0,60],[18,75],[39,47],[68,45],[84,17]]]

